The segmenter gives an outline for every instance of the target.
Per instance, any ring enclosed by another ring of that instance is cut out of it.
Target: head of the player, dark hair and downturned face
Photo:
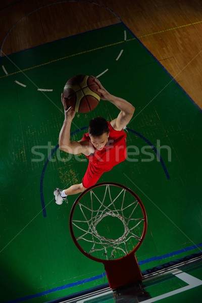
[[[110,130],[106,119],[103,117],[96,117],[90,120],[88,126],[88,134],[92,144],[96,149],[103,149],[103,147],[108,142],[109,133]]]

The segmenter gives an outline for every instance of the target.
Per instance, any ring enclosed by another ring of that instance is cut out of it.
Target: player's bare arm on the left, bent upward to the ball
[[[63,94],[61,96],[61,99],[65,108]],[[74,116],[75,112],[73,111],[72,107],[70,107],[68,110],[65,110],[65,120],[59,135],[59,148],[68,154],[78,155],[82,153],[88,156],[90,154],[89,149],[91,147],[89,146],[88,141],[80,140],[77,142],[70,140],[70,129]]]

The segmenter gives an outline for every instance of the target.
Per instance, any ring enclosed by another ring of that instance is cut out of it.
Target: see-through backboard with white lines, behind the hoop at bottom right
[[[200,260],[191,260],[186,265],[177,265],[169,270],[162,270],[154,275],[147,275],[142,282],[112,291],[105,288],[93,288],[88,293],[61,300],[66,303],[154,303],[200,302],[202,289],[202,272]],[[52,301],[53,302],[53,301]],[[48,302],[51,303],[51,302]]]

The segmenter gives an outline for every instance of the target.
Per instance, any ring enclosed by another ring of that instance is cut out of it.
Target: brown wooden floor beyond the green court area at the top
[[[2,56],[120,20],[202,108],[200,0],[2,0]]]

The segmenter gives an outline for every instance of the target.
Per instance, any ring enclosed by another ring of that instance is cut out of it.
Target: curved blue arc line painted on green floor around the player
[[[72,136],[72,135],[76,134],[77,132],[79,132],[79,131],[81,131],[81,130],[84,130],[84,129],[86,129],[86,128],[88,128],[88,126],[83,126],[83,127],[79,128],[79,129],[77,129],[77,130],[71,132],[70,135]],[[140,138],[141,138],[142,140],[144,140],[149,146],[151,146],[151,147],[153,148],[153,150],[154,150],[155,153],[157,154],[157,157],[158,157],[159,160],[160,160],[160,163],[161,163],[161,165],[162,165],[162,167],[163,167],[163,169],[164,169],[164,172],[165,172],[165,174],[166,174],[166,177],[167,177],[167,179],[169,180],[169,179],[170,179],[169,173],[168,173],[168,171],[167,171],[167,168],[166,168],[166,166],[165,166],[165,163],[164,163],[164,161],[163,161],[161,155],[160,155],[160,154],[158,153],[158,151],[157,151],[157,148],[156,148],[151,142],[149,142],[149,140],[147,140],[144,136],[142,136],[140,133],[138,133],[138,132],[136,132],[136,131],[134,131],[134,130],[128,128],[128,127],[126,128],[126,130],[129,130],[130,132],[136,134],[138,137],[140,137]],[[48,156],[48,158],[47,158],[47,160],[46,160],[46,162],[45,162],[45,164],[44,164],[44,167],[43,167],[43,169],[42,169],[42,173],[41,173],[41,179],[40,179],[40,197],[41,197],[41,206],[42,206],[42,211],[43,211],[43,217],[44,217],[44,218],[46,217],[46,211],[45,211],[45,203],[44,203],[44,197],[43,197],[43,179],[44,179],[45,169],[46,169],[46,167],[47,167],[49,161],[51,160],[52,156],[54,155],[55,151],[58,149],[58,147],[59,147],[59,144],[56,145],[56,147],[52,150],[52,153]]]

